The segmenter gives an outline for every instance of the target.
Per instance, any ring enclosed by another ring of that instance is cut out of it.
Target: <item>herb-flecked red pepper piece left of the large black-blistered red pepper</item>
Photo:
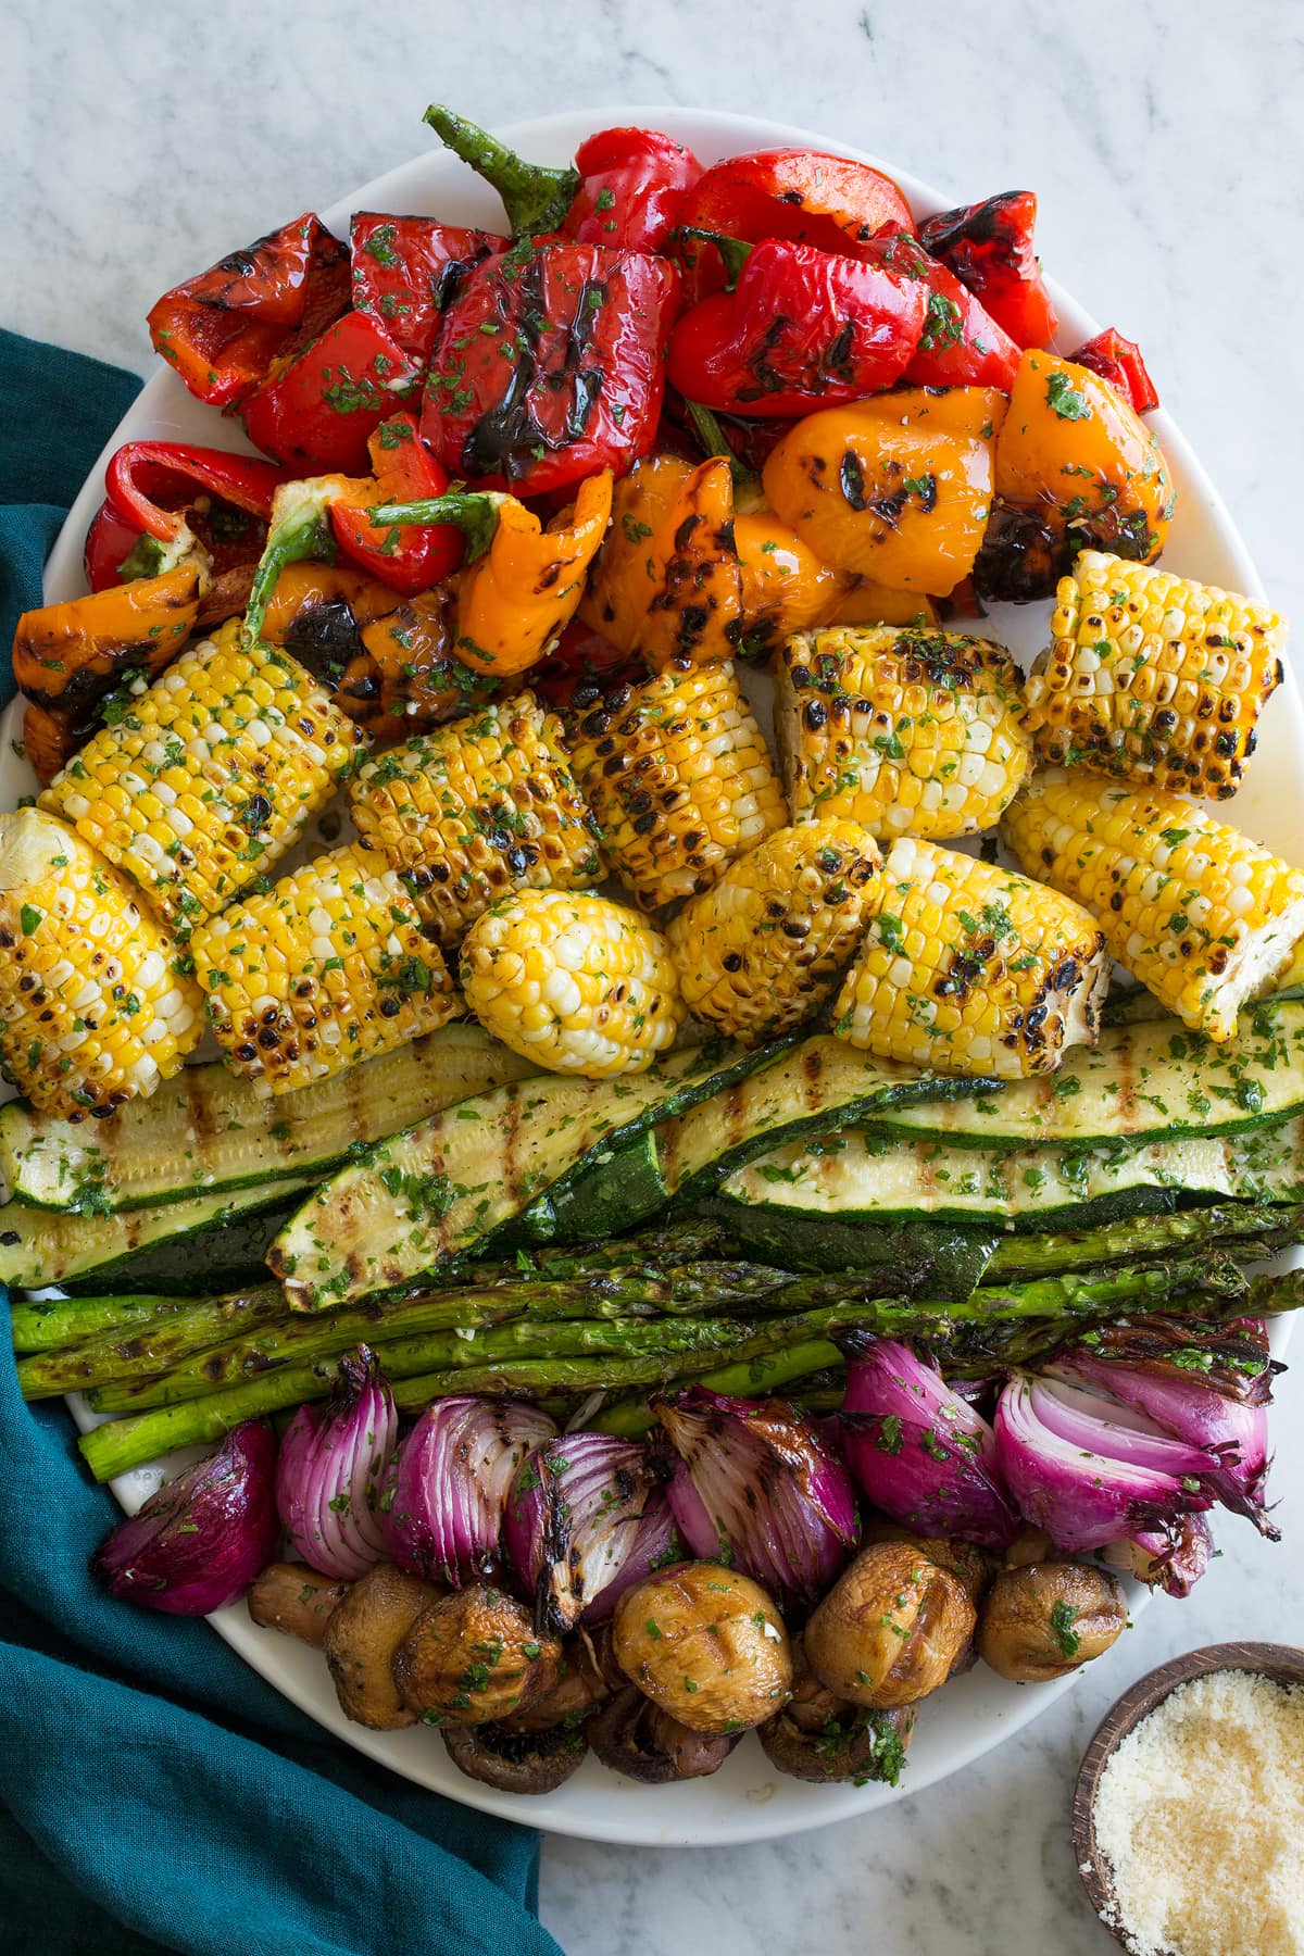
[[[420,366],[371,313],[344,313],[240,405],[250,442],[311,475],[360,475],[368,436],[416,387]]]

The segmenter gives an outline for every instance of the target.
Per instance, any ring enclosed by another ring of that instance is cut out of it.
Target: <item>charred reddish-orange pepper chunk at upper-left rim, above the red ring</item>
[[[348,305],[348,250],[311,213],[164,291],[149,311],[154,350],[199,401],[244,399],[297,336]]]

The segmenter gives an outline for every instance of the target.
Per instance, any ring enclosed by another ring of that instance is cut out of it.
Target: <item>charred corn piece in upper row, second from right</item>
[[[1028,773],[1019,669],[956,632],[841,628],[784,645],[774,734],[794,822],[882,839],[991,827]]]

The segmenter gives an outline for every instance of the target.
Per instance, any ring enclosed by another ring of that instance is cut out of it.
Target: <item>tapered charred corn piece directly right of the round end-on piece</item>
[[[860,939],[880,867],[854,822],[778,829],[739,857],[667,929],[694,1017],[757,1043],[802,1025]]]

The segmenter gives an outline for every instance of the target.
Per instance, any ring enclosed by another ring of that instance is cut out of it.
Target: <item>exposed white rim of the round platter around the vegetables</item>
[[[641,123],[645,127],[665,129],[669,135],[678,135],[684,141],[698,141],[702,149],[712,149],[717,155],[737,155],[743,149],[766,149],[784,145],[802,145],[807,149],[823,149],[835,155],[850,156],[860,162],[868,162],[874,168],[884,170],[893,182],[899,182],[913,209],[944,209],[946,200],[935,186],[927,180],[915,176],[911,170],[901,170],[899,166],[876,156],[872,151],[860,149],[852,143],[843,143],[819,131],[805,129],[798,123],[774,121],[770,117],[747,115],[735,110],[710,110],[694,108],[684,104],[598,104],[594,108],[577,110],[553,110],[538,117],[516,117],[510,123],[497,125],[497,133],[518,145],[532,147],[540,156],[547,155],[549,143],[555,145],[559,137],[567,139],[573,149],[575,141],[583,133],[594,129],[616,127],[622,123]],[[702,139],[702,131],[710,129],[710,143]],[[434,141],[434,139],[432,139]],[[440,176],[450,176],[454,194],[471,190],[475,184],[467,166],[459,164],[450,153],[432,149],[428,153],[414,153],[405,162],[391,166],[360,184],[356,190],[348,192],[344,198],[334,200],[323,209],[323,221],[332,229],[346,227],[348,213],[356,209],[373,207],[377,200],[391,198],[395,192],[387,186],[395,180],[409,178],[413,170],[432,170]],[[463,174],[465,172],[465,174]],[[379,205],[385,207],[383,203]],[[344,213],[344,217],[340,217]],[[1077,325],[1071,329],[1073,340],[1077,342],[1079,333],[1095,333],[1099,323],[1095,315],[1087,313],[1085,307],[1071,297],[1060,286],[1058,280],[1048,278],[1048,286],[1056,303],[1062,307],[1064,315],[1073,319]],[[180,395],[180,401],[178,401]],[[133,399],[127,413],[117,422],[113,434],[104,444],[104,450],[92,464],[78,497],[74,499],[68,516],[65,518],[51,556],[45,565],[45,600],[53,602],[55,597],[70,595],[72,587],[84,589],[84,577],[80,575],[80,554],[82,538],[86,526],[94,516],[94,511],[102,499],[102,479],[104,464],[121,444],[123,430],[135,428],[135,424],[145,419],[166,419],[168,401],[178,405],[190,401],[184,395],[182,383],[162,362],[156,362],[154,372],[145,379],[141,391]],[[1239,587],[1247,597],[1265,599],[1263,583],[1259,579],[1257,565],[1249,556],[1245,540],[1222,499],[1220,491],[1214,487],[1198,456],[1187,442],[1181,428],[1173,422],[1173,417],[1159,409],[1150,417],[1150,424],[1159,434],[1159,440],[1169,456],[1179,462],[1181,473],[1185,477],[1185,501],[1193,495],[1204,505],[1206,518],[1218,530],[1222,548],[1226,556],[1236,563],[1236,575]],[[227,440],[211,442],[211,446],[231,446],[233,452],[256,454],[252,444],[244,438],[242,430],[235,421],[225,424]],[[1300,708],[1300,694],[1290,669],[1286,671],[1286,687],[1282,689],[1290,704],[1290,714],[1294,720],[1294,737],[1298,749],[1304,753],[1304,712]],[[14,728],[14,712],[18,702],[14,702],[6,712],[10,724],[6,732]],[[1284,730],[1282,730],[1284,732]],[[1281,1322],[1281,1320],[1279,1320]],[[1284,1320],[1284,1334],[1288,1336],[1288,1320]],[[1275,1352],[1284,1350],[1284,1336],[1275,1342]],[[98,1424],[96,1414],[86,1410],[80,1395],[68,1399],[68,1406],[80,1430]],[[192,1449],[194,1451],[194,1449]],[[156,1481],[156,1475],[152,1477]],[[149,1490],[151,1477],[147,1471],[135,1475],[125,1475],[109,1483],[115,1498],[127,1512],[139,1506]],[[1132,1616],[1146,1608],[1152,1600],[1150,1590],[1142,1584],[1128,1584]],[[456,1800],[461,1805],[469,1805],[477,1811],[491,1813],[497,1819],[510,1819],[518,1825],[532,1825],[543,1833],[567,1835],[571,1839],[598,1841],[606,1845],[620,1846],[735,1846],[755,1841],[780,1839],[788,1835],[800,1835],[815,1827],[833,1825],[841,1819],[850,1819],[858,1815],[872,1813],[886,1805],[895,1805],[901,1800],[909,1800],[915,1794],[925,1792],[929,1786],[962,1772],[966,1766],[974,1764],[985,1753],[995,1751],[999,1745],[1009,1741],[1017,1731],[1030,1725],[1036,1717],[1050,1710],[1067,1690],[1073,1688],[1077,1678],[1083,1674],[1073,1672],[1067,1678],[1060,1678],[1052,1684],[1036,1688],[1036,1694],[1026,1692],[1021,1698],[1019,1686],[1005,1686],[1009,1692],[1009,1713],[1001,1712],[995,1719],[995,1729],[991,1719],[979,1721],[976,1735],[964,1739],[960,1729],[958,1739],[948,1745],[946,1756],[935,1764],[933,1770],[923,1770],[911,1776],[911,1768],[903,1776],[899,1788],[888,1786],[823,1786],[811,1788],[798,1780],[788,1780],[784,1776],[774,1776],[778,1780],[774,1798],[764,1798],[764,1803],[753,1803],[755,1794],[747,1794],[741,1800],[727,1800],[723,1805],[721,1819],[712,1819],[708,1827],[700,1823],[690,1831],[684,1823],[674,1825],[673,1811],[667,1800],[667,1823],[657,1825],[657,1794],[661,1790],[641,1788],[633,1782],[624,1782],[616,1774],[608,1774],[600,1788],[598,1798],[585,1801],[598,1809],[594,1815],[577,1815],[569,1811],[567,1794],[571,1788],[579,1792],[575,1780],[567,1782],[557,1794],[547,1794],[543,1798],[522,1800],[512,1794],[499,1794],[493,1788],[481,1786],[475,1780],[465,1778],[446,1760],[442,1747],[430,1749],[428,1756],[434,1764],[434,1772],[411,1770],[403,1758],[393,1756],[395,1741],[411,1741],[414,1733],[422,1727],[414,1727],[403,1733],[371,1733],[366,1727],[354,1725],[338,1712],[338,1708],[323,1700],[321,1690],[313,1686],[321,1680],[315,1672],[303,1672],[309,1678],[305,1686],[299,1672],[301,1665],[287,1663],[295,1655],[317,1659],[317,1653],[305,1647],[289,1645],[289,1639],[280,1639],[272,1643],[268,1639],[276,1637],[276,1631],[258,1629],[248,1618],[242,1604],[231,1604],[225,1610],[209,1618],[213,1629],[237,1651],[250,1668],[264,1678],[274,1690],[305,1712],[315,1723],[323,1725],[334,1737],[364,1753],[366,1756],[387,1766],[391,1772],[401,1774],[413,1784],[424,1786],[444,1798]],[[319,1659],[317,1659],[319,1661]],[[323,1672],[325,1678],[325,1672]],[[952,1690],[962,1690],[952,1686]],[[432,1737],[432,1735],[430,1735]],[[399,1747],[403,1753],[403,1747]],[[733,1756],[729,1766],[737,1762],[739,1755]],[[729,1786],[729,1766],[723,1768],[721,1780],[702,1782],[708,1790],[717,1790],[727,1796]],[[581,1774],[590,1770],[590,1762],[581,1768]],[[598,1768],[602,1770],[602,1768]],[[606,1801],[602,1796],[608,1796]],[[620,1809],[628,1801],[628,1815],[622,1817]],[[610,1819],[602,1819],[604,1805],[610,1805]],[[776,1811],[772,1813],[770,1807]],[[643,1819],[643,1811],[649,1809],[651,1817]],[[628,1823],[633,1821],[633,1825]]]

